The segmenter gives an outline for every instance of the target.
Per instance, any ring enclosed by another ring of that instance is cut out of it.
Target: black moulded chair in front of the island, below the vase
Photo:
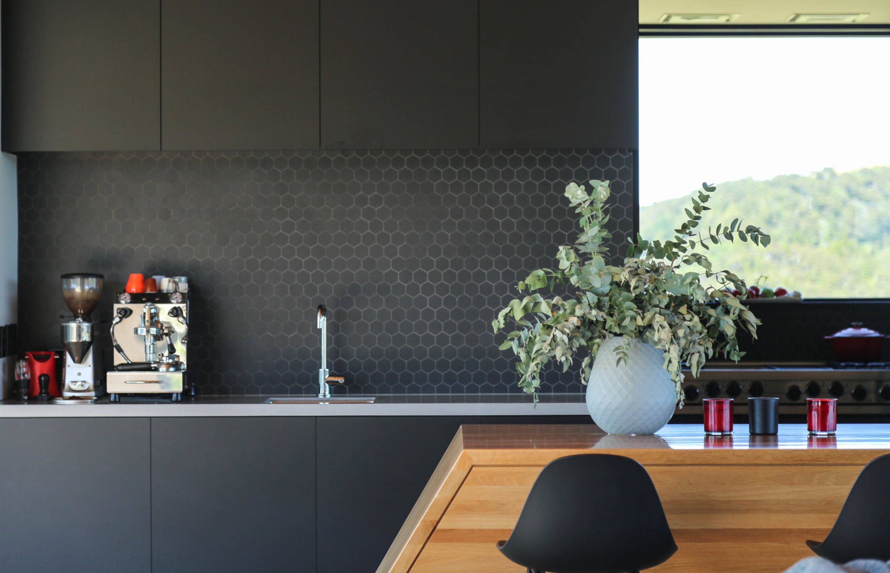
[[[642,465],[582,454],[546,465],[498,549],[529,573],[638,573],[667,561],[676,544]]]

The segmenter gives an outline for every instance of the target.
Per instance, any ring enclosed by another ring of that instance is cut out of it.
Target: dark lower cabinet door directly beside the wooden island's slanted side
[[[374,571],[461,417],[318,418],[319,573]]]

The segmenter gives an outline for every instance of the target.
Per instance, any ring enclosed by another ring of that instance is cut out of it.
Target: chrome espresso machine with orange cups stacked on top
[[[111,320],[114,367],[109,399],[121,394],[163,394],[174,402],[191,392],[186,377],[189,294],[120,293]]]

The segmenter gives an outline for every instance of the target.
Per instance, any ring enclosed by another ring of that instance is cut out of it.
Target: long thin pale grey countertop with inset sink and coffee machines
[[[380,395],[373,404],[266,404],[268,396],[199,396],[127,399],[112,404],[58,405],[0,401],[0,418],[193,416],[587,416],[584,394],[542,394],[537,407],[526,394]]]

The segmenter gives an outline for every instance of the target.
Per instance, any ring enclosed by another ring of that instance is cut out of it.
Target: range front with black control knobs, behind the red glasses
[[[748,397],[779,399],[781,406],[803,408],[807,398],[837,398],[845,410],[890,412],[890,363],[786,363],[744,366],[709,362],[698,377],[686,373],[686,403],[705,398],[732,398],[744,405]],[[862,408],[860,408],[862,407]],[[869,407],[869,408],[865,408]],[[685,408],[684,408],[685,409]]]

